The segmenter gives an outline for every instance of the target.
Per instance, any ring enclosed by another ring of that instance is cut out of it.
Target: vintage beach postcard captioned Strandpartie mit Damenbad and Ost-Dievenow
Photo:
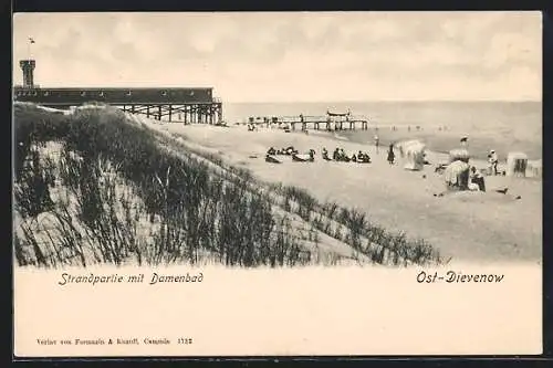
[[[540,12],[15,13],[14,356],[542,353]]]

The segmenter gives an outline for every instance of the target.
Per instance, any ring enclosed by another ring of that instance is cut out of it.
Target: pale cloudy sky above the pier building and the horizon
[[[43,87],[212,86],[226,102],[542,98],[540,12],[15,13],[14,84],[30,56]]]

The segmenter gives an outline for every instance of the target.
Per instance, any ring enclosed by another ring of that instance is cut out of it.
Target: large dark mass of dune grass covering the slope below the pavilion
[[[206,165],[160,148],[149,132],[128,124],[118,111],[65,117],[25,107],[15,109],[14,120],[23,155],[14,176],[15,211],[23,219],[14,242],[20,265],[118,265],[129,257],[139,264],[205,257],[240,266],[311,262],[310,252],[273,219],[267,198],[244,192],[248,179],[222,182]],[[39,147],[52,140],[62,143],[63,154],[58,165],[46,166]],[[105,166],[112,167],[111,176]],[[75,209],[49,200],[55,177],[75,199]],[[118,197],[117,188],[127,188],[126,193]],[[48,246],[39,244],[30,225],[41,213],[55,218],[51,232],[58,236]],[[140,242],[144,218],[153,233]],[[71,249],[71,256],[61,248]]]

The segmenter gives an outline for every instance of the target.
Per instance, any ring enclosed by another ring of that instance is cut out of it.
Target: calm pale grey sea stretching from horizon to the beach
[[[226,103],[225,119],[246,123],[249,117],[313,116],[347,113],[369,122],[368,130],[342,130],[341,139],[380,144],[414,138],[429,149],[447,153],[468,137],[471,155],[486,158],[490,149],[500,156],[522,151],[529,159],[542,157],[541,102],[330,102]],[[418,127],[418,128],[417,128]]]

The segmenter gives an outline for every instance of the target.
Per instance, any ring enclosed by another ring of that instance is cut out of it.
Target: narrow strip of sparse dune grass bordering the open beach
[[[236,177],[247,178],[254,182],[260,190],[265,187],[267,193],[272,193],[270,200],[281,206],[285,211],[295,213],[316,229],[341,242],[345,242],[362,254],[368,255],[375,263],[404,264],[444,264],[450,260],[441,256],[424,239],[410,239],[404,232],[392,232],[368,220],[366,213],[354,209],[343,208],[335,202],[319,202],[307,190],[282,183],[263,183],[253,179],[252,174],[244,168],[237,168],[225,164],[221,156],[191,148],[186,139],[177,134],[160,134],[154,132],[167,146],[178,147],[179,150],[192,153],[207,161],[225,168]],[[168,139],[167,136],[174,139]]]

